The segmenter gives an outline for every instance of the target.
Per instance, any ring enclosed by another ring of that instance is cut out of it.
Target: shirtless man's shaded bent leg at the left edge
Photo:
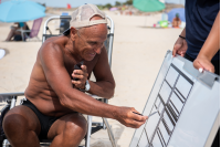
[[[10,109],[3,118],[3,130],[13,147],[40,147],[41,130],[36,115],[27,106]]]

